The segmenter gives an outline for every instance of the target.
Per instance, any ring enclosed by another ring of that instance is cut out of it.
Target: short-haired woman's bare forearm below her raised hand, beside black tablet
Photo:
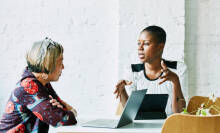
[[[173,99],[172,99],[172,110],[174,113],[179,113],[186,106],[186,102],[181,90],[179,78],[173,82]]]

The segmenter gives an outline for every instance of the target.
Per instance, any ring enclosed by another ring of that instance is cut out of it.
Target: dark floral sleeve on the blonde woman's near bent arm
[[[55,127],[77,123],[73,112],[50,103],[51,99],[45,92],[45,88],[39,88],[36,81],[24,79],[18,90],[14,94],[20,104],[26,106],[41,121]]]

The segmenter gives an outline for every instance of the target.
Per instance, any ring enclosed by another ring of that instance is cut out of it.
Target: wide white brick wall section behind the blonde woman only
[[[19,80],[26,47],[51,37],[64,46],[65,69],[54,88],[80,114],[113,114],[117,80],[116,0],[0,2],[0,101]],[[1,104],[1,111],[4,105]]]

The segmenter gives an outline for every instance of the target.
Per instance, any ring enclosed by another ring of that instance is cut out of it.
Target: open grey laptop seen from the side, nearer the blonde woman
[[[119,128],[133,122],[147,89],[132,91],[119,120],[96,119],[81,124],[83,127]]]

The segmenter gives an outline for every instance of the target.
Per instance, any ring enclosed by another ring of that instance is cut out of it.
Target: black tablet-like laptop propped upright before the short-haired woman
[[[166,119],[168,94],[146,94],[135,120]]]

